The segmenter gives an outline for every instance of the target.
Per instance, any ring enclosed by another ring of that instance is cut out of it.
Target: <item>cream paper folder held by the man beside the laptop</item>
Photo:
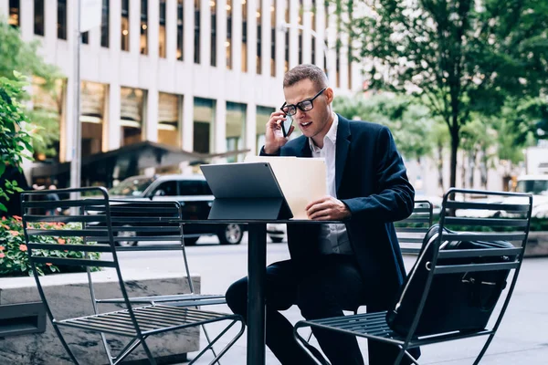
[[[328,194],[323,158],[248,156],[246,162],[269,162],[293,219],[309,219],[306,206]]]

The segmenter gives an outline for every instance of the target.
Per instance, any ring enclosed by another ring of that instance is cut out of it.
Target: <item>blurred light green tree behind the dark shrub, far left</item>
[[[16,80],[14,70],[26,76],[35,76],[39,82],[38,87],[55,100],[57,110],[27,110],[28,118],[42,127],[42,138],[34,141],[35,151],[52,155],[56,151],[51,146],[59,140],[62,75],[56,66],[47,64],[38,54],[39,46],[38,41],[25,42],[17,28],[0,19],[0,77]],[[18,98],[28,100],[29,96],[23,92]]]

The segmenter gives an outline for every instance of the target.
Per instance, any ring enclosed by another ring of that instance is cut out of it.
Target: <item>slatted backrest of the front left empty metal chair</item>
[[[104,188],[58,189],[58,200],[50,200],[51,191],[32,191],[21,194],[22,222],[27,255],[37,281],[37,289],[48,316],[55,318],[39,273],[47,266],[64,266],[68,271],[114,269],[121,297],[130,308],[126,288],[121,278],[118,257],[113,245],[109,196]],[[89,198],[70,198],[80,193]],[[77,214],[56,215],[53,212],[76,208]],[[95,214],[90,214],[93,211]],[[69,288],[68,288],[69,290]],[[94,308],[94,306],[90,306]],[[91,314],[91,313],[90,313]]]

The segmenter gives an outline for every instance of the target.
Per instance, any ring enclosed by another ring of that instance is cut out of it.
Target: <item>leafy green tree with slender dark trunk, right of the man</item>
[[[422,95],[448,125],[451,186],[470,114],[546,89],[546,1],[366,0],[352,27],[372,87]]]

